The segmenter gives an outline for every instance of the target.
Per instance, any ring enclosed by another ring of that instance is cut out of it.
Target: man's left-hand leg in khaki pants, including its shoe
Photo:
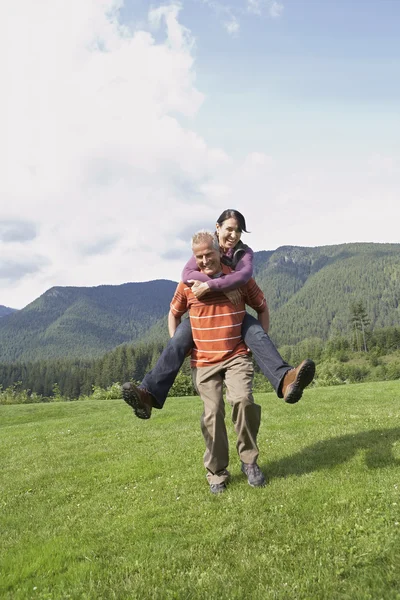
[[[223,377],[220,365],[200,367],[192,370],[193,382],[204,403],[201,416],[201,431],[206,444],[204,466],[211,486],[225,489],[229,478],[228,434],[225,426],[225,405],[222,392]],[[215,493],[215,491],[214,491]],[[218,493],[218,492],[217,492]]]

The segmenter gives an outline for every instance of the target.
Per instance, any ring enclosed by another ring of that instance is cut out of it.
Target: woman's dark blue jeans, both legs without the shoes
[[[259,321],[248,313],[243,320],[242,336],[246,346],[252,351],[261,372],[272,384],[279,398],[282,398],[281,382],[285,373],[292,367],[283,360]],[[184,319],[177,327],[174,337],[169,340],[162,351],[156,365],[145,375],[140,385],[155,398],[157,402],[155,408],[164,406],[175,377],[192,347],[190,320]]]

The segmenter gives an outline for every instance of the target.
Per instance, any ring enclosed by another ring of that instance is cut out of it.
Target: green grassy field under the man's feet
[[[400,381],[257,401],[269,483],[230,426],[218,497],[198,398],[1,406],[0,597],[400,599]]]

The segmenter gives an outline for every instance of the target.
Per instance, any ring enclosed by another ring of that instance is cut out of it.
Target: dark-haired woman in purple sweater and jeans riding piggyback
[[[233,269],[232,273],[211,279],[197,269],[194,257],[186,264],[182,280],[188,285],[192,284],[192,292],[197,298],[209,291],[220,291],[232,302],[237,302],[237,294],[240,297],[238,288],[247,283],[253,274],[253,251],[241,241],[242,232],[247,233],[244,216],[234,209],[225,210],[217,220],[215,235],[222,251],[221,260]],[[242,337],[278,397],[284,398],[285,402],[290,404],[298,402],[303,389],[314,377],[314,363],[305,360],[297,369],[293,369],[280,356],[258,320],[248,313],[243,321]],[[185,356],[192,347],[190,320],[184,319],[169,340],[154,369],[145,375],[141,385],[123,385],[124,400],[133,408],[137,417],[148,419],[152,407],[163,407]]]

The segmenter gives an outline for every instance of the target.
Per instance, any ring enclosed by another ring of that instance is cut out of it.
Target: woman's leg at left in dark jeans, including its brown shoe
[[[148,419],[152,407],[162,408],[186,355],[193,346],[190,320],[184,319],[168,341],[154,368],[139,387],[133,383],[122,386],[123,398],[140,419]]]

